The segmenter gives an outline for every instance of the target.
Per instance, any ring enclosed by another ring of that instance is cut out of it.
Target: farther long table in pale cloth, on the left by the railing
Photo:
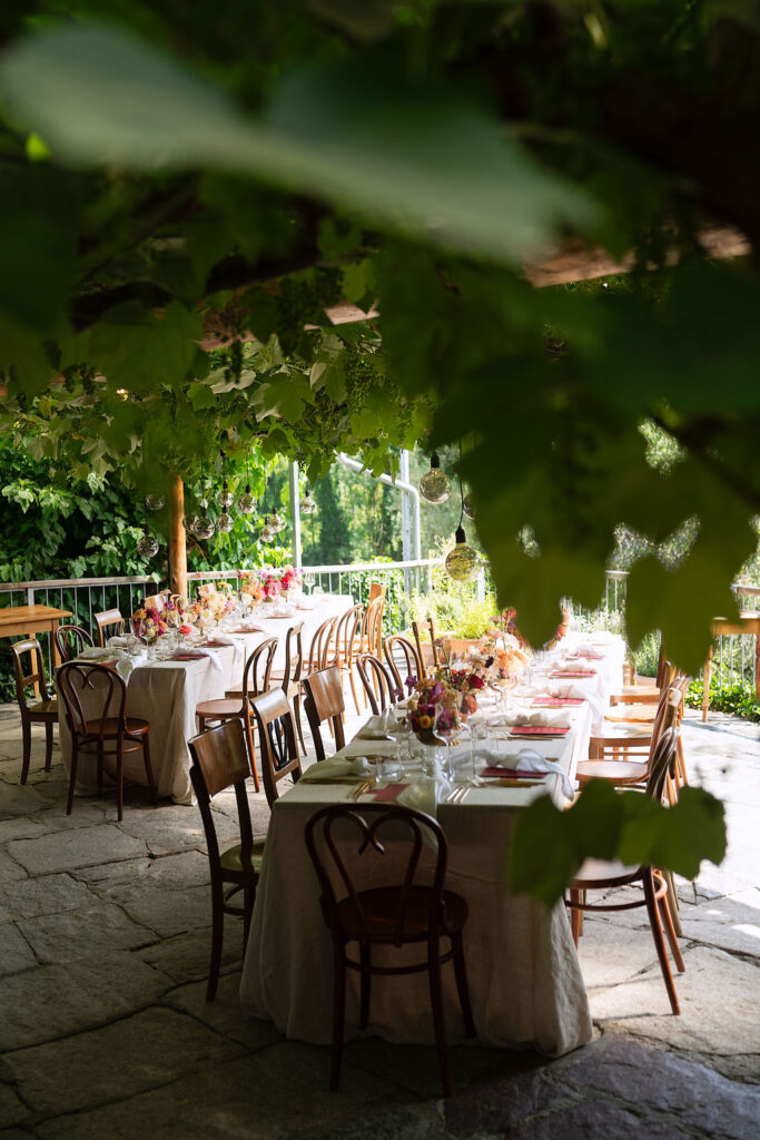
[[[311,601],[311,600],[310,600]],[[316,595],[313,608],[296,610],[293,614],[251,618],[258,628],[250,633],[224,633],[231,645],[216,645],[212,660],[209,657],[193,661],[142,659],[126,678],[126,715],[150,722],[150,760],[158,787],[158,796],[171,796],[178,804],[193,801],[190,784],[190,754],[188,740],[197,733],[195,709],[201,701],[222,698],[227,690],[242,683],[246,658],[267,637],[279,637],[275,669],[285,665],[285,634],[297,621],[303,621],[303,651],[309,651],[311,637],[322,621],[344,613],[353,605],[349,594]],[[64,765],[71,771],[71,734],[66,724],[63,701],[59,702],[60,750]],[[81,755],[76,791],[93,795],[96,791],[95,759]],[[124,757],[124,779],[145,784],[142,752]]]

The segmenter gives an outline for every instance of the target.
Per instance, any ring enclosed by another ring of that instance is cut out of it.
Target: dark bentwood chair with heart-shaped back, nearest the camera
[[[362,1029],[369,1024],[374,975],[427,971],[441,1082],[444,1094],[450,1096],[451,1070],[441,984],[441,967],[446,962],[453,963],[469,1037],[475,1036],[475,1026],[461,942],[467,903],[444,888],[448,845],[443,830],[432,816],[395,804],[333,804],[309,819],[305,842],[319,880],[322,913],[335,954],[330,1089],[337,1090],[341,1072],[346,970],[354,970],[360,977],[359,1025]],[[431,872],[419,868],[424,846],[435,848]],[[398,874],[393,874],[398,886],[367,886],[377,881],[373,872],[378,864],[390,864],[389,872],[395,872],[398,866]],[[446,951],[441,945],[444,939],[449,944]],[[350,954],[349,945],[353,943],[357,950]],[[407,959],[399,966],[373,961],[374,947],[401,950],[409,945],[424,950],[419,955],[422,960],[409,962]]]

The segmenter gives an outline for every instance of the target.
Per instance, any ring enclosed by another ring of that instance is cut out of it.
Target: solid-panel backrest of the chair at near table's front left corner
[[[211,799],[226,788],[235,789],[237,814],[240,826],[240,861],[245,865],[253,852],[253,828],[246,779],[251,775],[248,752],[240,720],[227,720],[219,728],[212,728],[188,742],[193,765],[190,780],[198,801],[198,809],[206,834],[206,846],[212,873],[220,868],[219,840],[214,824]]]

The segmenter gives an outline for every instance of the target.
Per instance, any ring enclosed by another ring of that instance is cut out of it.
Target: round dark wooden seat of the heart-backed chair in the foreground
[[[426,942],[430,931],[430,907],[432,889],[428,887],[411,887],[407,894],[404,923],[401,933],[402,942]],[[399,911],[399,887],[376,887],[359,891],[358,898],[363,913],[361,921],[356,904],[351,898],[338,903],[340,921],[349,940],[359,938],[363,930],[369,931],[373,942],[390,943],[395,940],[395,925]],[[444,931],[461,930],[467,920],[467,903],[453,891],[443,891],[446,907]]]

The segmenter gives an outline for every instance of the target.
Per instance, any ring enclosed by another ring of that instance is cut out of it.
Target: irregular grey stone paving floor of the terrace
[[[356,725],[349,724],[351,731]],[[760,733],[711,714],[684,728],[693,782],[726,803],[729,850],[679,883],[687,972],[669,1011],[644,911],[587,918],[580,958],[597,1039],[557,1061],[451,1050],[442,1100],[432,1049],[346,1047],[341,1092],[327,1050],[283,1040],[238,1004],[239,925],[204,1000],[210,898],[195,808],[126,793],[65,815],[56,750],[35,736],[18,784],[19,725],[0,706],[0,1134],[103,1138],[553,1140],[760,1135]],[[263,795],[251,797],[256,834]],[[231,840],[234,806],[215,803]]]

